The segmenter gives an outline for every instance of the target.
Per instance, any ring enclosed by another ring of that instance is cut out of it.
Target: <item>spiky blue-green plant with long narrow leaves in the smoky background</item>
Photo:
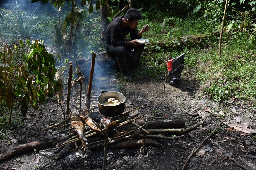
[[[38,7],[39,7],[39,5],[38,5]],[[36,10],[37,10],[37,8],[36,8]],[[3,15],[12,24],[12,26],[14,27],[13,30],[16,32],[16,34],[9,33],[9,35],[16,36],[16,37],[19,37],[19,38],[22,38],[22,39],[23,38],[28,38],[28,37],[33,37],[35,35],[39,35],[39,34],[31,34],[31,32],[33,30],[35,30],[37,25],[42,21],[42,20],[38,21],[35,25],[30,25],[30,21],[33,18],[35,18],[35,16],[36,16],[36,15],[34,15],[36,10],[32,13],[32,15],[28,18],[27,21],[25,21],[24,18],[22,18],[22,15],[21,15],[20,9],[18,7],[17,1],[16,1],[16,10],[17,10],[17,12],[16,12],[16,14],[14,12],[14,16],[17,20],[17,23],[14,23],[9,18],[7,18],[6,16]]]

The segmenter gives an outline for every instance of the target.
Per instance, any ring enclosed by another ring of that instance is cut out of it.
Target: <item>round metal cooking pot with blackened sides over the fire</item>
[[[121,103],[116,106],[108,106],[104,104],[105,102],[108,101],[109,98],[115,98]],[[122,93],[119,93],[116,91],[104,92],[98,97],[97,100],[98,100],[99,110],[102,115],[118,116],[124,112],[126,97]]]

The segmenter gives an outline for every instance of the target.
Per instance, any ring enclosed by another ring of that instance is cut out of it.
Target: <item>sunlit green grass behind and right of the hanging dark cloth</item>
[[[190,51],[189,72],[203,87],[204,94],[210,95],[214,101],[223,103],[229,103],[229,100],[236,96],[239,101],[255,106],[256,39],[252,33],[224,32],[222,53],[219,56],[221,23],[204,18],[179,17],[165,17],[158,21],[144,19],[139,22],[138,28],[146,24],[150,26],[150,30],[143,34],[143,38],[150,39],[151,42],[146,46],[147,52],[141,59],[144,65],[154,67],[157,74],[161,74],[165,70],[166,56],[175,58]],[[169,37],[166,37],[168,32]],[[176,49],[167,46],[169,39],[200,34],[207,36],[196,46],[178,48],[177,44]]]

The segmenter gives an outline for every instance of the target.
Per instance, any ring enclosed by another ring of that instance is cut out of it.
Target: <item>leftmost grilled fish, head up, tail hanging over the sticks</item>
[[[71,114],[71,125],[72,128],[76,129],[78,136],[84,141],[87,141],[84,137],[84,122],[78,115]]]

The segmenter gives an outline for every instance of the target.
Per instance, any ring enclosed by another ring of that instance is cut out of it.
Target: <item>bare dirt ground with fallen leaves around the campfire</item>
[[[145,69],[152,69],[150,67]],[[163,76],[163,75],[161,75]],[[106,79],[104,79],[104,78]],[[256,127],[255,110],[245,103],[234,102],[223,108],[219,103],[212,102],[208,96],[201,94],[198,82],[183,71],[180,83],[194,88],[196,91],[186,89],[181,86],[172,86],[166,83],[165,93],[164,80],[157,78],[151,80],[147,77],[134,77],[134,81],[125,82],[119,74],[101,75],[93,79],[92,96],[100,95],[101,91],[118,91],[126,96],[125,110],[132,110],[143,106],[143,108],[133,111],[130,114],[146,113],[145,116],[136,120],[138,122],[149,120],[174,120],[183,119],[186,127],[194,125],[203,120],[205,123],[196,128],[198,132],[191,131],[185,134],[184,138],[176,140],[157,140],[158,146],[147,146],[147,153],[143,154],[143,147],[109,149],[107,156],[108,170],[181,170],[184,160],[191,154],[193,148],[197,148],[202,141],[211,133],[210,130],[201,130],[202,128],[214,128],[223,119],[218,114],[224,114],[224,118],[229,124],[249,123],[252,129]],[[85,93],[82,98],[85,108]],[[72,93],[71,110],[78,113],[74,105],[78,105],[78,99],[75,100],[75,93]],[[97,101],[92,101],[91,107],[97,106]],[[63,105],[66,108],[66,105]],[[40,140],[54,135],[68,135],[70,132],[61,130],[40,131],[41,129],[59,122],[63,119],[63,114],[56,99],[48,99],[46,103],[40,105],[42,113],[30,109],[27,117],[23,120],[27,122],[26,127],[20,132],[13,133],[8,138],[2,138],[0,147],[12,147],[28,142]],[[192,110],[198,108],[194,113],[200,111],[203,116],[189,116]],[[208,110],[207,110],[208,109]],[[222,113],[222,112],[223,113]],[[239,120],[240,119],[240,120]],[[172,137],[172,135],[164,134]],[[52,146],[54,147],[54,146]],[[0,163],[2,169],[56,169],[73,170],[81,169],[82,159],[77,151],[68,153],[64,158],[55,161],[55,153],[52,151],[43,151],[47,148],[34,150],[13,156]],[[202,145],[200,152],[191,157],[185,169],[197,170],[216,170],[216,169],[241,169],[240,165],[246,169],[253,170],[256,167],[256,147],[252,135],[234,130],[222,124],[220,128]],[[84,169],[102,169],[103,151],[89,151],[84,161]]]

